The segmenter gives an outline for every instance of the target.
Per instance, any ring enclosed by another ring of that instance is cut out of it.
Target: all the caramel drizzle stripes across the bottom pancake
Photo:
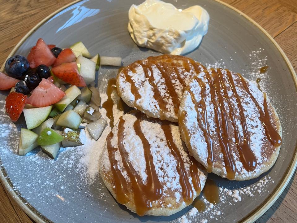
[[[134,191],[134,203],[136,205],[136,213],[139,216],[143,216],[150,208],[152,208],[152,202],[154,200],[158,200],[161,198],[163,194],[163,186],[161,185],[158,175],[155,170],[155,166],[153,164],[153,156],[150,150],[149,141],[145,138],[144,133],[141,130],[140,123],[145,118],[145,115],[139,111],[133,111],[136,116],[136,121],[133,124],[136,135],[141,139],[144,148],[144,158],[146,162],[146,170],[148,174],[147,184],[142,182],[141,177],[133,168],[127,151],[124,148],[123,139],[124,139],[124,124],[125,120],[123,116],[119,119],[118,124],[118,150],[123,160],[124,169],[127,172],[128,177],[131,181],[131,188]],[[154,119],[152,119],[154,120]],[[157,119],[155,119],[157,120]],[[193,201],[194,193],[192,189],[192,185],[189,182],[189,178],[187,176],[187,172],[185,169],[183,158],[174,143],[174,139],[172,136],[170,122],[163,121],[161,125],[161,129],[164,131],[166,142],[168,147],[170,148],[171,154],[174,156],[177,161],[177,172],[179,174],[179,182],[182,187],[182,195],[183,200],[190,204]],[[118,169],[118,162],[114,157],[115,151],[117,148],[114,148],[111,145],[111,138],[113,138],[113,133],[110,132],[107,136],[107,149],[109,154],[109,160],[111,165],[111,171],[114,179],[115,185],[115,194],[116,199],[121,204],[126,204],[129,202],[128,197],[128,182],[123,177],[121,171]],[[196,193],[199,194],[201,191],[201,183],[199,178],[199,170],[200,164],[190,156],[190,174],[192,177],[192,184]]]

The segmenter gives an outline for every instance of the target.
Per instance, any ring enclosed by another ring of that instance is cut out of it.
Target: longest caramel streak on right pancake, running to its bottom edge
[[[225,109],[223,97],[221,95],[220,80],[217,77],[215,70],[211,69],[211,71],[213,75],[213,80],[211,80],[211,77],[208,72],[205,72],[206,74],[205,76],[209,83],[211,101],[214,107],[217,135],[218,135],[220,147],[222,149],[225,168],[227,172],[226,177],[231,180],[235,178],[236,166],[235,166],[233,157],[230,154],[226,109]],[[220,112],[216,102],[216,95],[217,95],[218,105],[220,107]],[[220,117],[220,113],[221,113],[221,117]]]

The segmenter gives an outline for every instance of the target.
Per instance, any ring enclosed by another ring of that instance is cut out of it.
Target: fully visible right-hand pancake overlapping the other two
[[[282,127],[266,94],[241,75],[201,72],[179,107],[181,137],[208,172],[249,180],[268,171],[282,143]]]

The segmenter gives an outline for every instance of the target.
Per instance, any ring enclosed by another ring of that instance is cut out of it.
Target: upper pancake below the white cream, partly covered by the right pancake
[[[118,94],[128,106],[149,117],[178,122],[184,88],[203,69],[203,65],[184,56],[148,57],[119,72]]]

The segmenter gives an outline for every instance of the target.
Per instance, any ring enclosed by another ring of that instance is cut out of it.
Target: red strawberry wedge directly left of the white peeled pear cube
[[[80,76],[80,73],[78,72],[76,62],[63,63],[58,67],[54,67],[52,72],[56,77],[69,84],[76,85],[78,87],[87,86],[86,82],[84,82],[84,78]]]

